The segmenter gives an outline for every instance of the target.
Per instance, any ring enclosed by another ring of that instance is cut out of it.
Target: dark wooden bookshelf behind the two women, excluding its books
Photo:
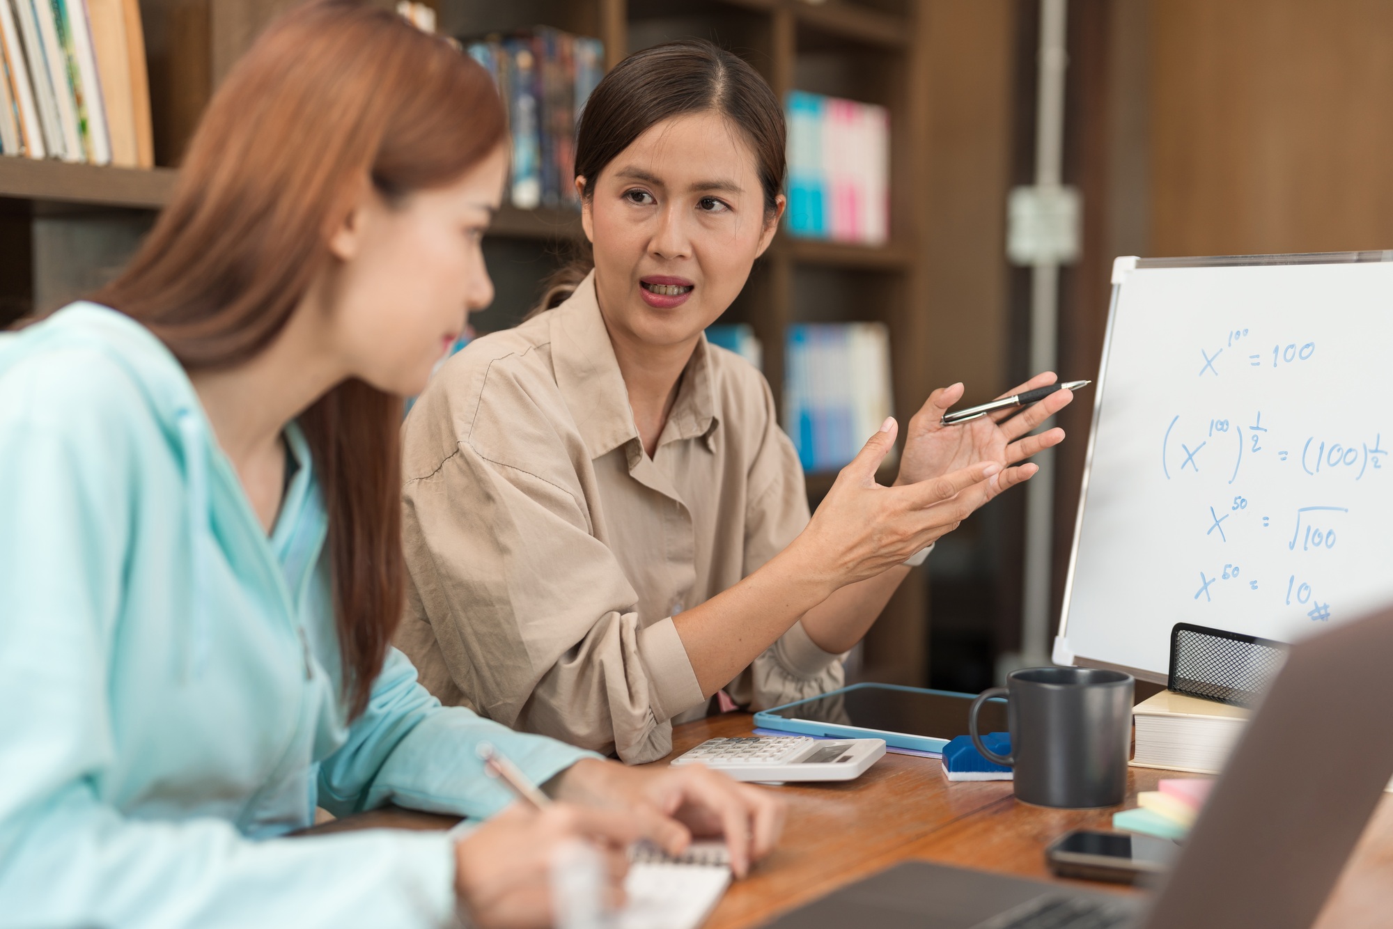
[[[61,304],[120,267],[169,201],[184,145],[217,82],[294,0],[142,0],[156,163],[132,171],[0,157],[0,325]],[[383,0],[384,6],[390,6]],[[436,0],[440,32],[476,36],[552,25],[605,42],[606,64],[657,42],[699,36],[745,57],[783,97],[801,89],[890,111],[890,240],[866,247],[780,233],[722,322],[749,323],[765,375],[783,383],[793,322],[876,320],[892,333],[894,409],[928,393],[929,0]],[[495,305],[481,331],[520,319],[540,279],[581,238],[574,212],[504,209],[485,241]],[[808,475],[809,497],[834,475]],[[889,475],[882,475],[889,479]],[[915,571],[866,639],[861,677],[922,684],[928,589]]]

